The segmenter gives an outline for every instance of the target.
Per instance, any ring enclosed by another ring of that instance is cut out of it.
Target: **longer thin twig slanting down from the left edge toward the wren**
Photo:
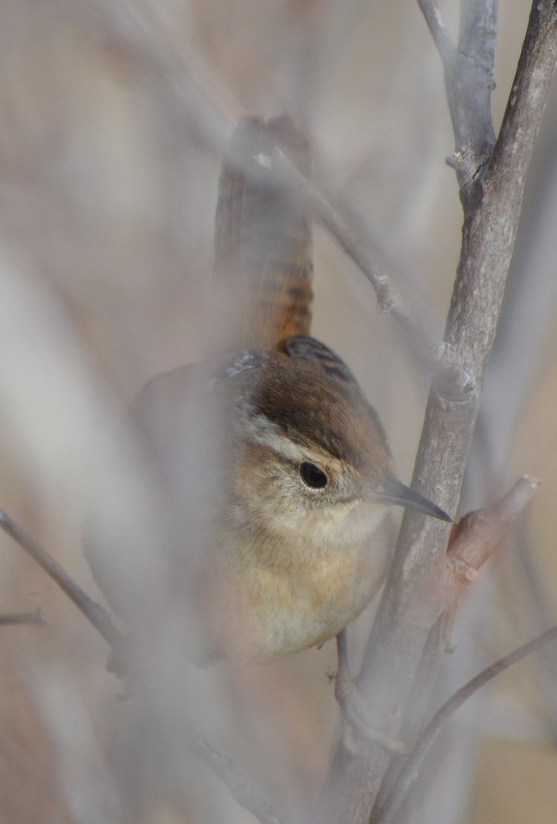
[[[82,590],[58,561],[52,555],[49,555],[38,541],[35,541],[35,538],[32,538],[3,509],[0,509],[0,529],[7,532],[44,569],[44,572],[52,578],[54,583],[58,584],[59,588],[82,611],[87,620],[91,621],[91,624],[101,633],[113,650],[121,647],[124,636],[119,632],[104,606],[92,601],[87,592]]]

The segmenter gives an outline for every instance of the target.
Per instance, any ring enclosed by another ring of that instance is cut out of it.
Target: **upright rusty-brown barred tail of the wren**
[[[309,145],[288,116],[244,118],[222,162],[215,220],[220,311],[235,307],[235,344],[283,349],[311,323],[311,215],[256,161],[279,147],[304,175]],[[224,305],[223,305],[224,303]]]

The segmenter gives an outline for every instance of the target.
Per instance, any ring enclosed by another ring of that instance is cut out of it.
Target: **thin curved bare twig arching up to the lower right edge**
[[[418,768],[424,756],[428,753],[433,742],[438,737],[443,724],[447,723],[452,715],[456,713],[456,710],[459,709],[471,695],[474,695],[476,691],[480,690],[480,687],[497,676],[499,672],[503,672],[508,669],[508,667],[512,667],[513,664],[522,661],[522,658],[526,658],[527,655],[536,652],[536,650],[540,649],[544,644],[548,644],[555,639],[557,639],[557,626],[551,627],[550,630],[546,630],[535,639],[528,641],[527,644],[523,644],[522,647],[515,649],[512,653],[505,655],[503,658],[499,658],[499,660],[491,664],[490,667],[487,667],[464,686],[461,686],[461,689],[457,690],[455,694],[438,709],[433,715],[433,719],[431,719],[425,728],[424,733],[419,738],[419,742],[405,761],[405,765],[400,771],[400,775],[391,790],[391,794],[389,794],[385,803],[383,803],[377,811],[377,815],[373,817],[373,824],[389,824],[389,822],[392,821],[392,817],[399,804],[405,798],[414,781],[418,778]]]

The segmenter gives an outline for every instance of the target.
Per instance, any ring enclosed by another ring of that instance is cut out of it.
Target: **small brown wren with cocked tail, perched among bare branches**
[[[396,479],[377,413],[308,334],[310,215],[256,173],[276,146],[309,175],[307,141],[287,117],[244,119],[222,164],[215,279],[221,310],[241,313],[232,349],[154,378],[132,406],[180,513],[175,555],[198,541],[192,521],[203,525],[193,597],[205,658],[269,661],[335,637],[381,586],[392,506],[448,520]]]

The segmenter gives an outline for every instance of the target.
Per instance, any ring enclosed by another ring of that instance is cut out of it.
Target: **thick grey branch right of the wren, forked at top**
[[[445,340],[452,344],[456,357],[470,374],[473,388],[466,400],[453,402],[438,394],[441,386],[433,382],[414,469],[414,488],[454,513],[503,300],[524,178],[555,68],[557,11],[550,0],[533,3],[501,133],[493,160],[486,163],[481,156],[488,150],[490,139],[485,96],[493,83],[485,61],[489,63],[494,54],[494,3],[486,0],[482,7],[480,2],[472,2],[463,14],[461,47],[466,45],[474,55],[471,66],[461,63],[465,66],[464,77],[455,73],[460,59],[455,62],[447,45],[437,8],[429,2],[422,2],[422,7],[426,7],[424,13],[436,43],[442,44],[457,147],[460,143],[461,150],[470,147],[472,152],[472,165],[468,163],[470,157],[465,157],[466,162],[457,168],[465,221]],[[481,43],[474,47],[473,28],[478,21],[483,21],[477,30]],[[483,91],[475,95],[471,83],[478,75]],[[478,174],[480,169],[482,174]],[[445,525],[405,513],[360,675],[360,685],[378,723],[388,719],[388,732],[394,735],[399,735],[424,644],[447,606],[439,592],[446,542]],[[441,652],[439,649],[437,658]],[[367,822],[387,765],[388,756],[378,747],[367,747],[365,758],[354,758],[340,748],[327,796],[332,815],[339,820]],[[328,820],[333,820],[332,816]]]

